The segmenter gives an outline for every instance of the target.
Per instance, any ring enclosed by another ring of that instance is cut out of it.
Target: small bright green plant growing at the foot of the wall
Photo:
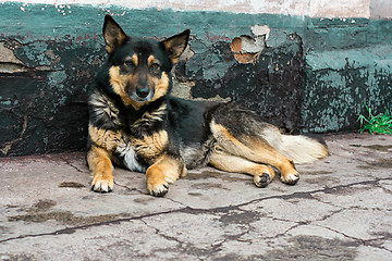
[[[369,114],[368,117],[360,114],[357,119],[360,123],[359,133],[368,132],[370,134],[392,134],[392,117],[388,110],[383,114],[373,115],[371,109],[366,104],[365,108]]]

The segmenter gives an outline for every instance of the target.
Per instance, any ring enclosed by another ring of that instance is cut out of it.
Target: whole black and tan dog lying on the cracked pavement
[[[295,184],[293,162],[311,162],[328,154],[318,141],[281,135],[279,129],[235,103],[200,102],[170,96],[171,71],[184,51],[189,30],[163,41],[127,36],[107,15],[103,38],[109,59],[89,95],[91,189],[113,188],[113,164],[146,172],[154,196],[187,169],[211,164],[254,176],[258,187],[274,177]],[[270,166],[269,166],[270,165]]]

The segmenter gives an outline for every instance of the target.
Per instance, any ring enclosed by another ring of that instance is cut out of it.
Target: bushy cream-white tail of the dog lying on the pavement
[[[274,142],[272,147],[295,163],[310,163],[328,156],[326,146],[302,135],[281,135],[280,142]]]

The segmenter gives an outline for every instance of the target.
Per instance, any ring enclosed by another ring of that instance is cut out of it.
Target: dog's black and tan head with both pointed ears
[[[109,53],[109,84],[125,105],[138,110],[170,91],[170,72],[186,48],[189,30],[162,41],[140,39],[127,36],[106,15],[103,38]]]

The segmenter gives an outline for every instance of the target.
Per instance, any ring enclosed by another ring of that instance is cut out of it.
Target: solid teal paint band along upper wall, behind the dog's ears
[[[206,46],[213,45],[210,39],[207,39],[206,33],[220,40],[232,39],[241,35],[250,35],[250,26],[255,24],[268,24],[270,28],[279,30],[275,34],[278,37],[283,32],[283,27],[294,32],[303,29],[306,23],[301,16],[290,15],[179,12],[170,9],[130,10],[115,5],[88,4],[74,4],[70,9],[72,12],[65,12],[63,15],[56,5],[28,4],[23,7],[24,11],[21,10],[22,5],[23,3],[15,2],[0,3],[0,12],[7,16],[0,21],[0,27],[3,28],[1,34],[14,36],[19,33],[22,44],[28,42],[32,38],[42,37],[44,39],[66,37],[73,41],[85,40],[101,32],[106,13],[111,13],[120,24],[124,25],[126,32],[135,36],[171,36],[184,28],[191,28],[192,34],[203,39]],[[271,38],[271,41],[277,37]]]

